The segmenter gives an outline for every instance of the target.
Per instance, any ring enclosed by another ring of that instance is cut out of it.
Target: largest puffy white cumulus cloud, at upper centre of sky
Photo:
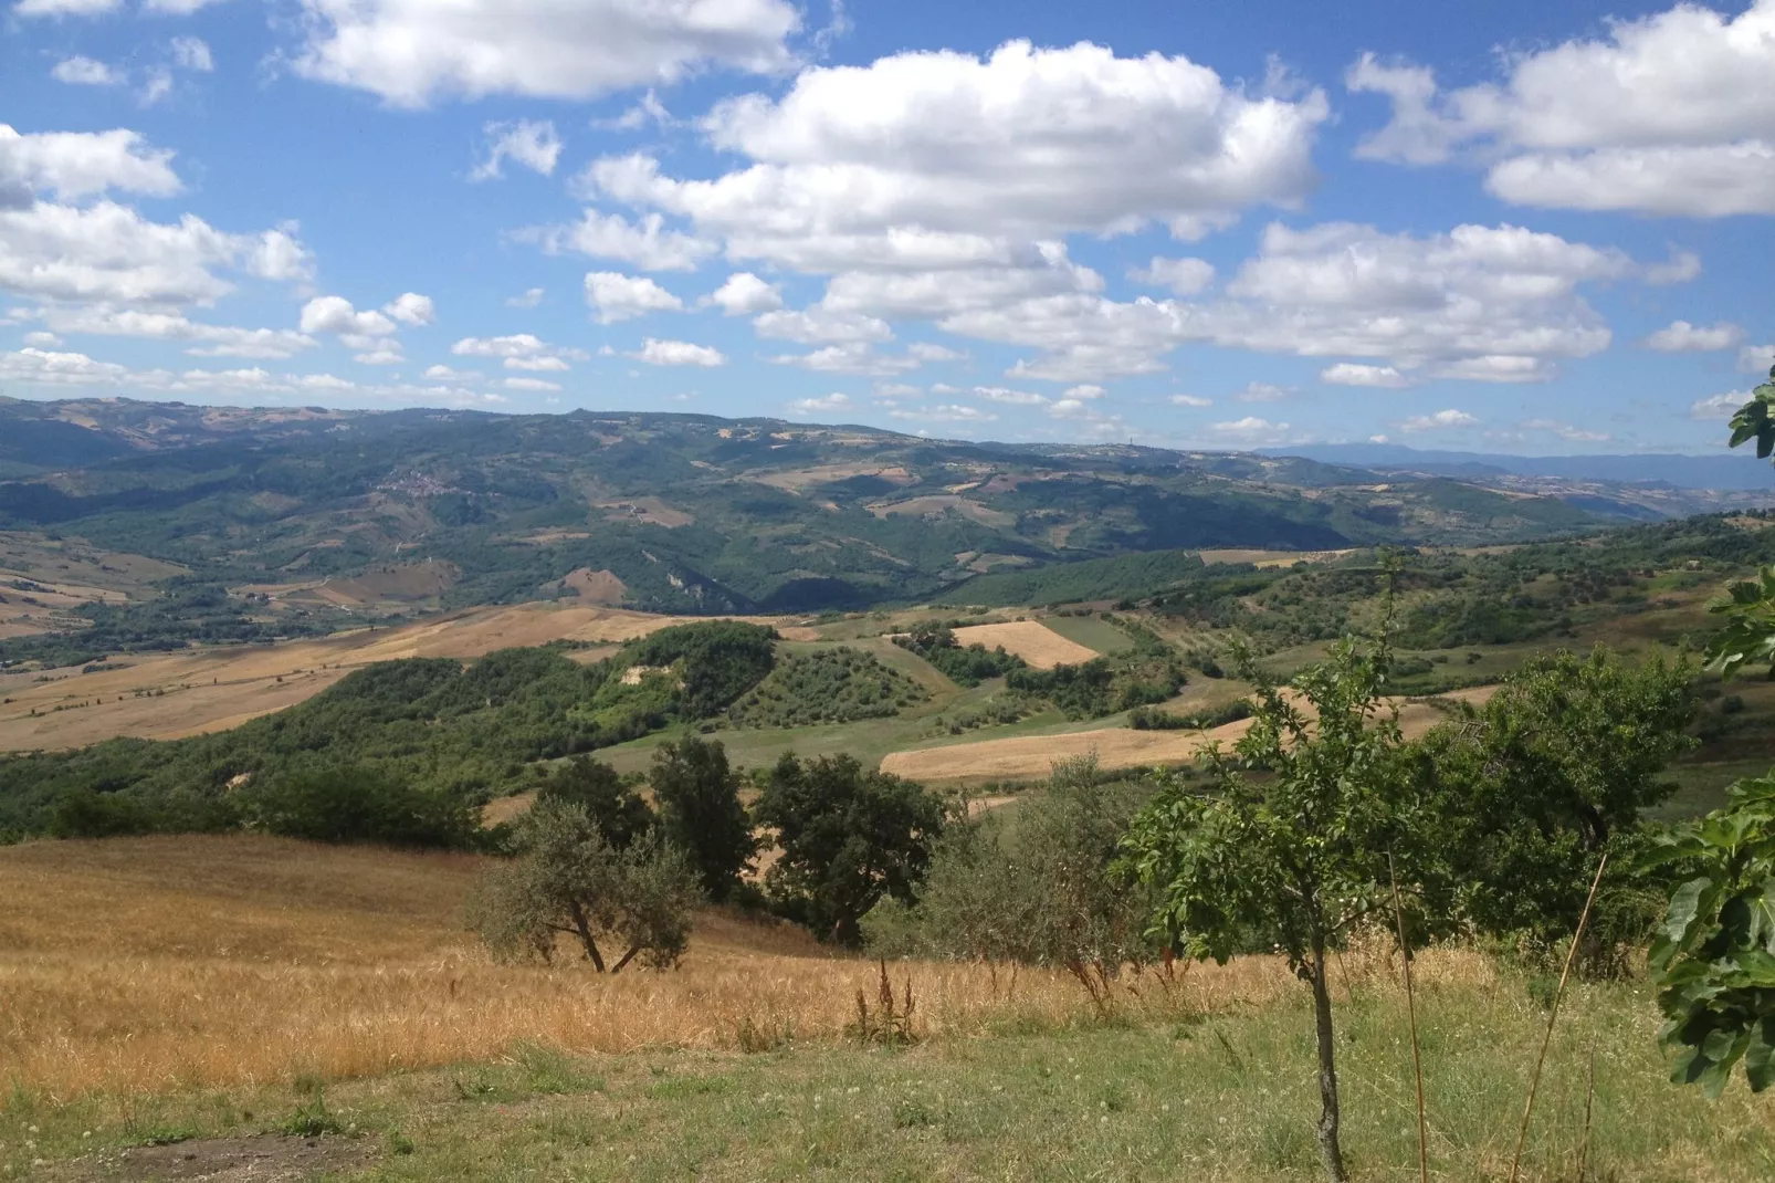
[[[1193,238],[1314,183],[1324,96],[1251,96],[1184,57],[1012,41],[985,59],[909,52],[802,71],[703,121],[753,163],[673,179],[595,162],[611,199],[690,218],[733,258],[802,270],[1028,265],[1038,240],[1161,222]],[[813,266],[815,263],[824,266]]]

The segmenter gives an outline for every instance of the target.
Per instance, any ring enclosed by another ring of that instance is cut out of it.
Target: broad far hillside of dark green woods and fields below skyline
[[[0,400],[0,529],[186,570],[160,604],[71,611],[73,643],[0,641],[0,663],[531,599],[801,613],[1141,593],[1203,547],[1468,545],[1603,524],[1555,497],[1314,460],[669,414]]]

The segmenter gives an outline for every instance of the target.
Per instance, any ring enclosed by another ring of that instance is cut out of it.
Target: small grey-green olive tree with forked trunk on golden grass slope
[[[469,901],[469,925],[499,961],[554,961],[561,934],[600,973],[641,959],[671,968],[703,899],[690,860],[648,833],[612,847],[584,805],[540,799],[517,826],[518,849]],[[605,947],[616,961],[605,961]],[[618,952],[619,950],[619,952]]]

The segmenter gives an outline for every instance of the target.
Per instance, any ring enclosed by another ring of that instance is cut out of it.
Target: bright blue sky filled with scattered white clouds
[[[5,0],[0,389],[1704,451],[1775,0]]]

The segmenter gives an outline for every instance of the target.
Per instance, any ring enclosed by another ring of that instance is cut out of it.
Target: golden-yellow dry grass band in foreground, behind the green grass
[[[463,854],[241,835],[4,849],[0,1062],[16,1087],[67,1100],[375,1076],[490,1059],[515,1041],[733,1050],[742,1030],[838,1037],[857,989],[873,996],[870,961],[722,913],[703,917],[676,972],[499,966],[458,922],[479,869]],[[1424,982],[1491,975],[1477,954],[1416,965]],[[1003,970],[974,965],[902,963],[893,975],[911,977],[934,1036],[1090,1009],[1065,973],[1022,970],[1014,991]],[[1280,963],[1246,957],[1191,970],[1166,1005],[1242,1009],[1296,991]]]

